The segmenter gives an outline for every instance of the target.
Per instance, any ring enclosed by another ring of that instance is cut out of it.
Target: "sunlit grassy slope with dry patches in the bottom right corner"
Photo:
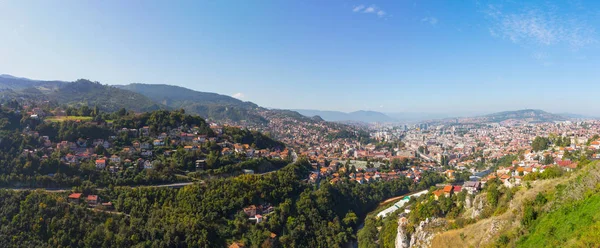
[[[599,167],[594,163],[569,176],[533,182],[531,189],[521,189],[515,194],[505,213],[440,233],[434,237],[432,247],[494,247],[501,235],[512,240],[504,246],[600,244],[600,194],[598,190],[596,193],[590,191],[600,182]],[[556,192],[559,184],[566,186],[560,193]],[[523,228],[523,204],[533,200],[538,193],[551,198],[546,204],[547,211],[541,213],[531,227]]]

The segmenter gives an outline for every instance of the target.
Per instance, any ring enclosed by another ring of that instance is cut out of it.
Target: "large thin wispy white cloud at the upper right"
[[[595,29],[583,17],[562,14],[555,7],[504,12],[501,7],[488,5],[483,12],[491,20],[490,34],[515,44],[566,45],[577,50],[597,43]]]

